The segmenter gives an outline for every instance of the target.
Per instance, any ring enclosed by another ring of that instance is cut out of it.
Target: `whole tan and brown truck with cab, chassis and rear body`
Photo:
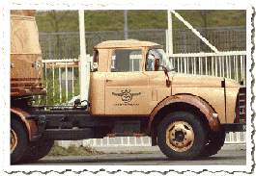
[[[46,89],[35,17],[27,15],[11,15],[11,164],[42,159],[54,140],[145,136],[170,160],[194,160],[216,154],[227,132],[245,131],[242,82],[178,73],[160,44],[136,39],[94,47],[88,100],[33,105]]]

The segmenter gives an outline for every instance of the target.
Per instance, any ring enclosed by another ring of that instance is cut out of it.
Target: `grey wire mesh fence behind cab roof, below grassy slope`
[[[219,51],[246,50],[246,27],[211,27],[197,29]],[[173,50],[178,53],[213,52],[189,29],[173,29]],[[105,40],[125,39],[124,31],[86,32],[86,52],[93,55],[93,47]],[[128,30],[128,38],[154,41],[166,48],[166,30]],[[43,60],[77,59],[79,56],[79,33],[40,33]]]

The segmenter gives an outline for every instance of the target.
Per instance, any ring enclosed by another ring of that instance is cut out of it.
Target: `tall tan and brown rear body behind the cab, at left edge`
[[[46,93],[35,12],[11,11],[11,96]]]

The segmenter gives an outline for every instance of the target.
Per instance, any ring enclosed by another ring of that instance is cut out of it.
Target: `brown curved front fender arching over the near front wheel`
[[[213,116],[213,113],[215,113],[215,111],[213,110],[213,107],[198,96],[183,94],[183,95],[169,96],[157,104],[156,108],[150,115],[148,134],[150,134],[151,124],[154,120],[154,117],[156,116],[156,113],[158,113],[163,107],[171,105],[173,103],[178,103],[178,102],[187,103],[198,108],[201,113],[204,113],[206,115],[206,118],[209,121],[210,128],[213,131],[219,130],[220,123],[218,118],[216,116]]]

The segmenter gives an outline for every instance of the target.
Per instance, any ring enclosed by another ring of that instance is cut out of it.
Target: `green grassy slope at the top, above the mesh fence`
[[[194,28],[245,26],[243,10],[178,10]],[[37,11],[40,33],[79,32],[78,11]],[[124,11],[85,11],[85,31],[122,31],[125,27]],[[172,15],[173,29],[187,29]],[[128,10],[128,30],[167,29],[167,11]]]

